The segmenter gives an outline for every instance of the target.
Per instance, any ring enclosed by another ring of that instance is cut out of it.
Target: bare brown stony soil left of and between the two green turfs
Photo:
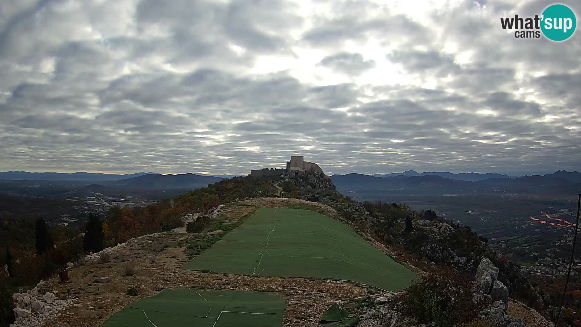
[[[295,199],[241,201],[224,206],[218,220],[225,225],[240,222],[258,207],[285,207],[289,202],[311,203]],[[223,231],[211,233],[218,232]],[[44,326],[99,326],[125,305],[177,286],[283,292],[286,301],[284,325],[318,326],[318,319],[332,304],[346,304],[366,294],[364,286],[331,280],[182,270],[180,267],[188,261],[184,253],[188,242],[207,237],[207,234],[166,233],[144,237],[114,254],[111,262],[94,262],[73,268],[69,283],[50,280],[46,284],[49,290],[59,298],[78,298],[78,303],[83,307],[69,307],[59,317],[45,322]],[[101,277],[110,280],[107,283],[97,282]],[[129,287],[137,288],[138,296],[128,296],[126,292]]]

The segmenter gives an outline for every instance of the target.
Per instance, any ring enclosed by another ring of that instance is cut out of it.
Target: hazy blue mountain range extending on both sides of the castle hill
[[[48,181],[60,184],[101,184],[106,187],[127,189],[196,189],[219,182],[232,175],[202,175],[185,173],[161,175],[134,173],[127,175],[103,173],[31,173],[0,172],[0,180]],[[344,191],[379,191],[382,193],[577,193],[581,190],[581,173],[558,170],[544,176],[508,176],[496,173],[450,173],[407,170],[403,173],[362,175],[351,173],[331,176],[333,183]],[[24,181],[23,181],[24,182]],[[96,187],[96,186],[94,186]]]

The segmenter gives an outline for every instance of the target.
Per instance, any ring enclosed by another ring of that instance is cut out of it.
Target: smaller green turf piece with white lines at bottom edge
[[[178,287],[127,305],[101,327],[280,327],[285,309],[275,292]]]

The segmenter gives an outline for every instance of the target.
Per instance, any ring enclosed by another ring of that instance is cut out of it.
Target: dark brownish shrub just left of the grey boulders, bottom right
[[[489,303],[472,300],[474,277],[449,269],[422,277],[399,296],[400,310],[422,324],[436,326],[471,322]]]

